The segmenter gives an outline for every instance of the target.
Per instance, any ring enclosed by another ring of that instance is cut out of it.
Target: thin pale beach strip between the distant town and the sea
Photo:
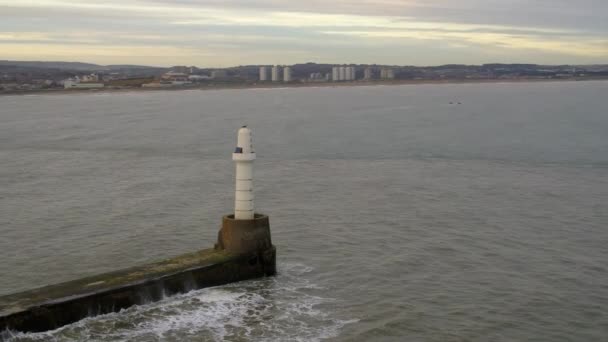
[[[354,81],[354,82],[310,82],[310,83],[247,83],[247,84],[214,84],[196,85],[190,87],[159,87],[159,88],[101,88],[101,89],[36,89],[13,90],[0,92],[1,96],[26,95],[65,95],[65,94],[99,94],[126,92],[154,91],[183,91],[183,90],[242,90],[242,89],[286,89],[286,88],[337,88],[337,87],[372,87],[399,85],[428,85],[428,84],[478,84],[478,83],[555,83],[555,82],[589,82],[608,81],[608,77],[599,78],[568,78],[568,79],[447,79],[447,80],[397,80],[397,81]]]

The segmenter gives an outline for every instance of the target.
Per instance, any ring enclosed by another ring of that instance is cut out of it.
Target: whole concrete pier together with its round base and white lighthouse
[[[253,212],[251,132],[241,128],[240,133],[243,136],[233,155],[237,162],[235,214],[223,217],[215,248],[2,296],[0,340],[9,336],[9,330],[52,330],[194,289],[274,275],[276,249],[269,218]],[[238,188],[243,184],[247,191]]]

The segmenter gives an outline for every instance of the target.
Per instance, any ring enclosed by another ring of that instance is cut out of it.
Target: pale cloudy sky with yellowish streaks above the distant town
[[[0,0],[0,60],[608,64],[608,0]]]

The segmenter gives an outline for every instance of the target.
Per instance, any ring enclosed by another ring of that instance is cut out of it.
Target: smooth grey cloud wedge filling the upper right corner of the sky
[[[164,6],[204,6],[273,12],[399,16],[420,21],[572,28],[608,32],[605,0],[152,0]]]

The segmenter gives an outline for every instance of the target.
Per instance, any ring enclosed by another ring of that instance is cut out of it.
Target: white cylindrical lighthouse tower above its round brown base
[[[251,142],[251,130],[241,127],[236,149],[232,154],[236,162],[236,189],[234,195],[234,219],[252,220],[253,212],[253,161],[255,152]]]

